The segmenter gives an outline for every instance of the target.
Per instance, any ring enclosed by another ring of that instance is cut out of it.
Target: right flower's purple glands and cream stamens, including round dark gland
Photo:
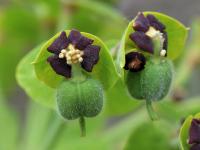
[[[139,12],[134,23],[134,32],[129,38],[136,46],[145,52],[154,54],[155,46],[153,40],[159,41],[160,56],[167,56],[168,36],[165,31],[166,27],[155,16],[148,14],[146,17]],[[126,54],[125,70],[138,72],[144,69],[146,64],[145,56],[140,52],[129,52]]]

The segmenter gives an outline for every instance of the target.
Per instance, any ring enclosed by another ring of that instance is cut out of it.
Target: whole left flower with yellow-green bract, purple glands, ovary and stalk
[[[103,59],[110,68],[104,66]],[[93,35],[67,30],[45,43],[33,64],[38,78],[56,89],[59,114],[68,120],[80,118],[85,135],[84,117],[100,113],[103,89],[109,89],[116,80],[117,73],[113,80],[106,77],[106,72],[114,69],[107,48]]]

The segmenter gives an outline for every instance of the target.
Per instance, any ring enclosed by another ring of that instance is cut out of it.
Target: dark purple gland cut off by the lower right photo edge
[[[200,150],[200,119],[193,119],[189,130],[190,150]]]

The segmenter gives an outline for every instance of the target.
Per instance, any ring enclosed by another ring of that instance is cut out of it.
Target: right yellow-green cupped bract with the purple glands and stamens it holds
[[[129,22],[118,53],[118,71],[125,66],[125,55],[130,51],[145,57],[167,57],[174,60],[184,49],[188,28],[176,19],[158,12],[139,12]],[[124,72],[120,72],[124,75]]]

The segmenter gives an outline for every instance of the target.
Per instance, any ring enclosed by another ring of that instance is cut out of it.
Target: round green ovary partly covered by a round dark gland
[[[128,91],[137,99],[161,100],[168,94],[172,76],[170,61],[148,60],[144,70],[137,73],[128,72],[126,81]]]

